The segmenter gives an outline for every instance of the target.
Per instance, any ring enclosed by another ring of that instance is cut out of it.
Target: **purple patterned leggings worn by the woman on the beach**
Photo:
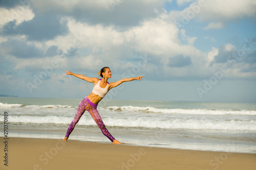
[[[93,117],[94,121],[96,122],[96,124],[100,128],[103,135],[108,137],[113,142],[115,140],[115,138],[110,134],[108,129],[106,129],[106,127],[105,127],[105,125],[104,125],[104,123],[103,123],[103,121],[102,121],[102,119],[99,115],[99,112],[97,110],[97,105],[92,103],[87,98],[87,96],[79,103],[76,115],[75,115],[74,119],[72,120],[71,124],[69,125],[66,137],[69,137],[71,132],[74,130],[76,124],[78,123],[80,117],[83,115],[84,111],[86,111],[86,110],[88,110],[88,112],[91,114],[91,116]]]

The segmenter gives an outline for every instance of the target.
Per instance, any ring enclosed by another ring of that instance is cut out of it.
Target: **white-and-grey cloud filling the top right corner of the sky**
[[[184,4],[189,0],[180,0]],[[184,27],[191,20],[208,22],[204,30],[221,29],[227,22],[256,16],[256,1],[197,0],[182,11],[170,11],[169,19],[177,21],[177,27]]]

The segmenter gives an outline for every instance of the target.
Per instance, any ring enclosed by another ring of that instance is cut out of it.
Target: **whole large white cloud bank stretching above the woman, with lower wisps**
[[[69,35],[59,36],[46,43],[48,47],[58,44],[59,48],[65,51],[69,44],[72,45],[77,36],[82,39],[82,43],[75,46],[78,54],[72,57],[72,60],[67,57],[67,67],[75,65],[76,68],[84,68],[84,65],[87,66],[89,63],[88,68],[94,70],[105,64],[125,71],[132,68],[134,64],[124,62],[124,60],[132,58],[134,53],[140,53],[151,55],[153,59],[158,61],[155,64],[160,64],[160,67],[164,65],[161,69],[168,72],[166,75],[170,75],[170,68],[167,66],[169,57],[180,54],[189,56],[195,64],[194,69],[199,68],[198,64],[201,65],[201,62],[206,58],[194,47],[197,37],[187,36],[185,30],[179,32],[173,22],[166,20],[166,14],[161,14],[157,19],[145,20],[140,26],[122,31],[118,31],[114,26],[89,25],[72,18],[68,18],[68,27]],[[181,43],[179,34],[187,42],[186,45]],[[86,49],[89,51],[87,56],[84,56],[82,51]],[[200,62],[198,62],[199,58]],[[147,68],[145,70],[148,72],[153,72],[155,69],[151,63],[147,64]],[[182,69],[179,69],[180,76],[187,76],[191,72],[181,71]]]

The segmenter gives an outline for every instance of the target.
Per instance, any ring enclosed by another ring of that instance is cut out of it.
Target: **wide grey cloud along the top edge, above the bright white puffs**
[[[172,1],[172,0],[170,0]],[[33,7],[40,13],[58,13],[72,17],[76,21],[89,25],[114,25],[125,29],[138,26],[144,20],[157,18],[162,12],[165,1],[114,1],[117,6],[112,7],[111,1],[36,1]],[[51,4],[49,6],[49,4]],[[131,12],[131,9],[133,12]]]

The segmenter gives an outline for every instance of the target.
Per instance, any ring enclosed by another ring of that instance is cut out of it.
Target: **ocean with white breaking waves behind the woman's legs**
[[[0,97],[8,137],[65,137],[82,99]],[[120,142],[172,149],[256,153],[256,104],[102,100],[98,111]],[[111,142],[85,112],[69,139]]]

